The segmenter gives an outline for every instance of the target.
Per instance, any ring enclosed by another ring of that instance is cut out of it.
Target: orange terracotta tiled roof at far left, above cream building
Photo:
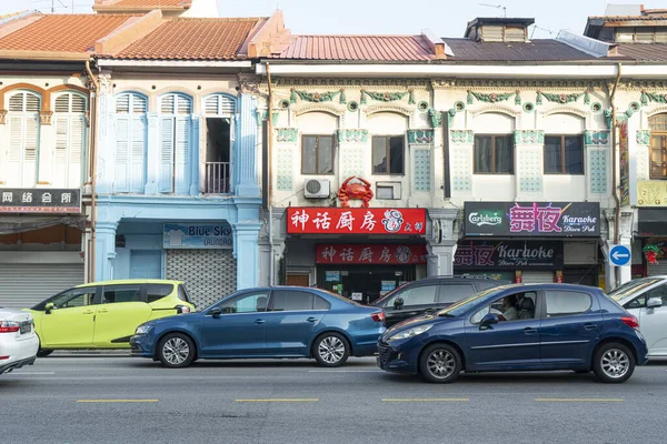
[[[135,16],[53,14],[43,16],[0,39],[0,50],[91,51],[94,42]]]

